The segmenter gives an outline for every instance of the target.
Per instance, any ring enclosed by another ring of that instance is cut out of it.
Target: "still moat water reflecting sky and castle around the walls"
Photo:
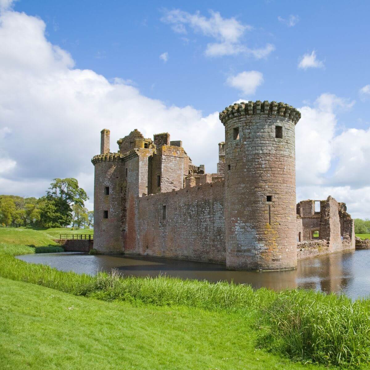
[[[297,270],[279,272],[230,271],[225,265],[182,260],[85,253],[43,253],[17,258],[42,263],[62,271],[95,275],[98,271],[117,269],[124,276],[158,276],[159,274],[218,282],[226,280],[250,284],[255,288],[275,290],[305,288],[322,292],[343,293],[351,299],[370,295],[370,250],[334,253],[298,262]]]

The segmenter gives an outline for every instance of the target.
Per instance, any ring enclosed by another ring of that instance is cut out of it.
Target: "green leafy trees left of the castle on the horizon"
[[[85,208],[87,199],[77,179],[56,178],[40,198],[0,195],[0,225],[90,228],[94,226],[94,212]]]

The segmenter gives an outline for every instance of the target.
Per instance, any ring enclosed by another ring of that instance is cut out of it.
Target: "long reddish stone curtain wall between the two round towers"
[[[128,252],[225,263],[224,191],[217,181],[141,197],[138,245]]]

